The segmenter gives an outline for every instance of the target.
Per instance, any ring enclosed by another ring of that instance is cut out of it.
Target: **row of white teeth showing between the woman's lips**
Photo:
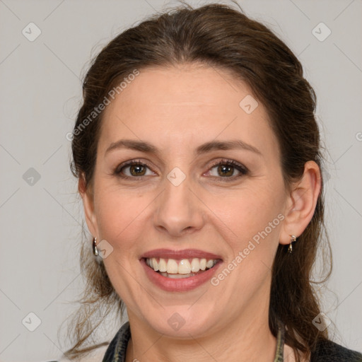
[[[154,271],[160,271],[160,274],[182,274],[183,276],[192,276],[193,273],[198,271],[210,269],[216,264],[216,259],[199,259],[197,257],[193,259],[163,259],[158,261],[156,257],[146,258],[146,264]],[[171,276],[170,276],[171,277]],[[172,276],[173,277],[173,276]],[[175,275],[175,278],[178,277]]]

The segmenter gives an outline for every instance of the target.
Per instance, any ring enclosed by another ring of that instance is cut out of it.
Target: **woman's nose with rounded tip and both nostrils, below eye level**
[[[165,179],[165,189],[156,201],[154,225],[169,236],[180,237],[204,225],[204,204],[186,177],[180,185]]]

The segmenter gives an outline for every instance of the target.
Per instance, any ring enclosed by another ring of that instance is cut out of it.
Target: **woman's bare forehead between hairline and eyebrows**
[[[224,69],[187,64],[141,69],[107,106],[99,146],[133,138],[180,149],[230,136],[275,148],[267,112],[245,83]]]

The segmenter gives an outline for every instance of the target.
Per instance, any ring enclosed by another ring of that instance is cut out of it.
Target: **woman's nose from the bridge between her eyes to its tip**
[[[165,189],[158,198],[154,218],[156,228],[180,235],[183,230],[202,227],[202,206],[195,199],[190,181],[191,177],[177,167],[165,177]]]

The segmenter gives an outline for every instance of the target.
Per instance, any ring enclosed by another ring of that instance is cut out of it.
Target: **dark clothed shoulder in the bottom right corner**
[[[310,362],[362,362],[362,354],[347,349],[334,341],[318,341],[315,351],[312,352]]]

